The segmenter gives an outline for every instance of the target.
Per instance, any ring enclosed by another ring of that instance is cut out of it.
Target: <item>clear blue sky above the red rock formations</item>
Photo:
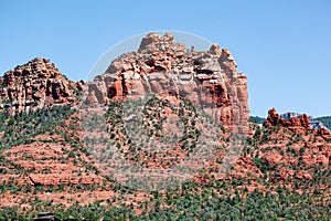
[[[75,81],[124,39],[192,32],[233,53],[248,76],[252,115],[331,115],[329,0],[0,0],[0,30],[1,73],[42,56]]]

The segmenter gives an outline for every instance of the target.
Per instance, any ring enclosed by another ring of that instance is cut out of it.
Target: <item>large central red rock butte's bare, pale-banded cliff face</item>
[[[137,98],[153,93],[190,99],[235,133],[248,131],[247,78],[228,50],[188,51],[171,34],[146,35],[136,52],[114,60],[87,85],[88,105]]]

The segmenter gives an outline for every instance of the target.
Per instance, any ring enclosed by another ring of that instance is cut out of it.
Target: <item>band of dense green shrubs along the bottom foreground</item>
[[[181,190],[160,196],[153,192],[149,202],[142,203],[142,213],[137,215],[131,206],[98,202],[88,206],[74,204],[64,210],[51,202],[40,202],[43,211],[52,211],[57,220],[330,220],[330,206],[322,204],[316,193],[298,194],[287,188],[277,188],[277,193],[247,190],[228,191],[228,182],[211,182],[202,189],[189,182]],[[216,191],[216,189],[218,191]],[[124,191],[124,190],[119,190]],[[232,193],[229,193],[232,192]],[[221,194],[221,196],[220,196]],[[245,198],[243,198],[245,196]],[[316,198],[316,200],[312,200]],[[147,206],[148,204],[148,206]],[[4,208],[0,220],[31,220],[33,213],[22,214],[18,208]]]

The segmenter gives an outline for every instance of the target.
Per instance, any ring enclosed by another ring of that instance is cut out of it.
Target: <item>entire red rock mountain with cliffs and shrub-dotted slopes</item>
[[[216,44],[148,34],[93,82],[36,59],[0,88],[0,220],[331,219],[330,133],[276,109],[248,122]]]

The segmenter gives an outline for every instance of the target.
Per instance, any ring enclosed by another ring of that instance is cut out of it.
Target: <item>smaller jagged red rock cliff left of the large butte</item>
[[[0,109],[9,114],[77,102],[83,82],[63,76],[46,59],[34,59],[0,77]]]

